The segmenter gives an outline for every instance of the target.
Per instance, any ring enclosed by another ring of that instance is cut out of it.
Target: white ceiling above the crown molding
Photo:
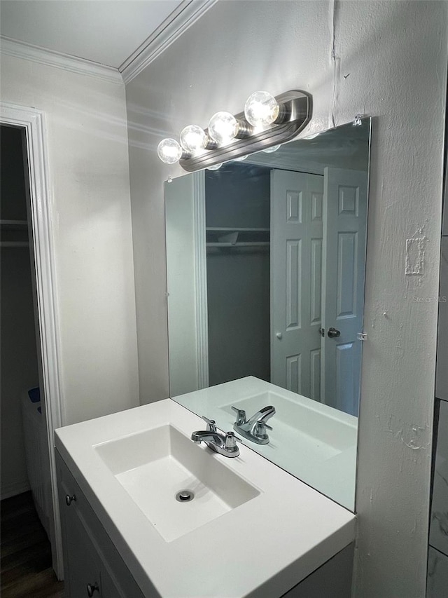
[[[119,69],[186,0],[1,0],[0,33]]]

